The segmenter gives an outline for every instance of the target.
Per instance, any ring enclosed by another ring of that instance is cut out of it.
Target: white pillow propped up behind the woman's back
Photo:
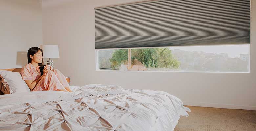
[[[0,77],[5,89],[0,88],[4,94],[30,92],[28,85],[22,80],[20,73],[6,70],[0,71]]]

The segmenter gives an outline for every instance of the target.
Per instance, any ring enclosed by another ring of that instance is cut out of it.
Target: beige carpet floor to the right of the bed
[[[186,106],[174,131],[256,131],[256,111]]]

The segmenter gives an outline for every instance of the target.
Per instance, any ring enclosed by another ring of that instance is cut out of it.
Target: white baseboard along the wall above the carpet
[[[256,110],[256,106],[228,105],[228,104],[216,104],[216,103],[204,103],[204,102],[187,102],[187,101],[183,101],[183,104],[188,105],[188,106],[198,106],[198,107],[214,107],[214,108],[227,108],[227,109]]]

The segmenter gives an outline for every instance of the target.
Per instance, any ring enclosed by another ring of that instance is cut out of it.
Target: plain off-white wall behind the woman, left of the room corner
[[[0,69],[23,67],[28,49],[41,44],[41,0],[1,0]]]

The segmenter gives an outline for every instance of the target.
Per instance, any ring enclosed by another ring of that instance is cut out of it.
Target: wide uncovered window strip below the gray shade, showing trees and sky
[[[250,45],[98,49],[97,70],[249,72]]]

